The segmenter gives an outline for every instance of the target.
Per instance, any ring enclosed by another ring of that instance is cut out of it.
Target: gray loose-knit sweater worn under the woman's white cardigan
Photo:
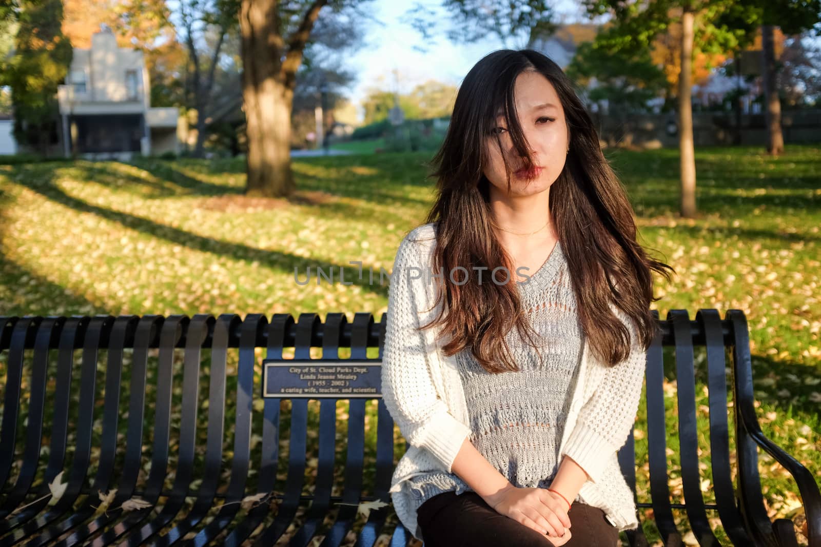
[[[561,246],[557,243],[530,279],[516,286],[537,333],[541,358],[514,328],[507,344],[520,371],[491,374],[475,361],[470,348],[456,360],[470,416],[470,441],[511,484],[548,488],[558,468],[558,444],[582,337]],[[459,476],[443,471],[409,481],[417,509],[434,495],[471,490]]]

